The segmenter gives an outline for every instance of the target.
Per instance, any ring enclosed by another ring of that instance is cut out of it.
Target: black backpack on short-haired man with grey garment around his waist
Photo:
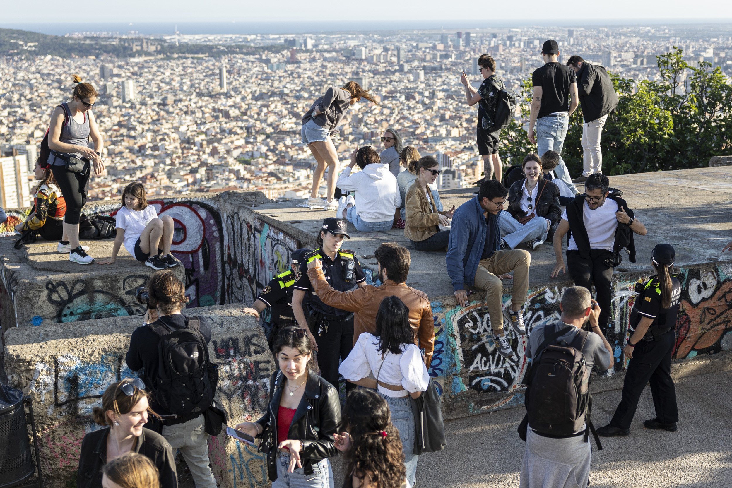
[[[567,326],[553,331],[539,345],[526,384],[526,416],[531,429],[550,436],[572,435],[587,424],[585,442],[591,429],[602,449],[589,419],[591,396],[582,353],[589,332],[578,331],[569,346],[553,344],[571,330],[572,326]]]

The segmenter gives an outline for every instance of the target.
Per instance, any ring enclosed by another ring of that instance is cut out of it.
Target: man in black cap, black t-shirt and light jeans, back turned
[[[543,157],[546,151],[561,154],[564,138],[567,137],[569,116],[580,103],[577,75],[572,68],[559,63],[559,45],[556,41],[548,40],[544,43],[542,56],[544,66],[535,70],[532,75],[534,98],[531,100],[529,117],[529,140],[537,145],[539,157]],[[559,165],[554,168],[554,173],[567,184],[572,193],[579,194],[561,157]]]

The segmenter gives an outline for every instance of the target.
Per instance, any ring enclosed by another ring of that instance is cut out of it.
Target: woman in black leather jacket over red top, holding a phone
[[[272,375],[267,412],[236,429],[261,438],[273,488],[332,488],[328,460],[337,454],[340,399],[334,386],[308,367],[313,359],[304,329],[280,329],[275,357],[280,370]]]

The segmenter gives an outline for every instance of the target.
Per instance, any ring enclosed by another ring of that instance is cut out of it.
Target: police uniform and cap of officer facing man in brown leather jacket
[[[331,229],[327,229],[326,225]],[[346,222],[343,219],[335,217],[325,219],[324,228],[332,233],[348,236]],[[315,259],[321,260],[325,279],[334,290],[348,291],[366,281],[366,275],[353,251],[340,249],[336,253],[335,259],[329,258],[320,248],[313,252],[314,254],[309,256],[308,262]],[[306,292],[307,305],[310,309],[308,323],[310,331],[315,336],[315,342],[318,344],[318,367],[321,369],[321,376],[337,388],[339,359],[346,359],[354,347],[354,314],[324,304],[313,290],[306,270],[301,269],[301,271],[303,272],[296,280],[294,288]]]

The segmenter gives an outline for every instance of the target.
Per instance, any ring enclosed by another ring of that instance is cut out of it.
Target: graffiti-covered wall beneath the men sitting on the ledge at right
[[[647,279],[617,279],[613,282],[612,316],[606,334],[613,347],[615,372],[627,361],[621,351],[627,341],[627,322],[635,302],[635,282]],[[702,266],[681,269],[683,288],[677,343],[673,359],[732,349],[732,266]],[[559,320],[559,301],[564,287],[529,290],[523,307],[526,329]],[[510,296],[504,296],[504,306]],[[488,308],[474,300],[467,307],[444,307],[433,301],[435,354],[430,375],[437,378],[446,394],[448,416],[481,413],[523,402],[530,360],[526,357],[526,337],[507,331],[515,354],[504,358],[493,342]]]

